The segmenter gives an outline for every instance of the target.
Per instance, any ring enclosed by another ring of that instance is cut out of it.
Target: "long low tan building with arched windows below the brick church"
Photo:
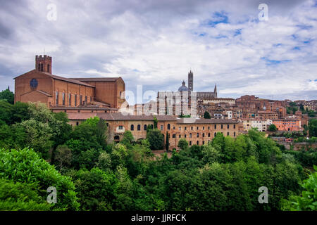
[[[125,131],[131,131],[135,141],[146,139],[147,127],[154,126],[154,115],[123,115],[122,113],[68,113],[70,124],[78,125],[90,117],[100,117],[108,125],[109,142],[119,142]],[[157,127],[166,139],[169,135],[170,149],[178,149],[178,141],[186,139],[189,146],[204,145],[217,132],[224,136],[237,137],[243,131],[242,123],[234,120],[178,118],[170,115],[156,115]],[[165,143],[165,140],[164,140]]]

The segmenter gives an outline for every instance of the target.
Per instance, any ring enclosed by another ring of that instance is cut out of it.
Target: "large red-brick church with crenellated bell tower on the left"
[[[54,112],[116,113],[125,102],[121,77],[66,78],[52,74],[52,58],[35,56],[35,70],[15,77],[14,101],[45,103]]]

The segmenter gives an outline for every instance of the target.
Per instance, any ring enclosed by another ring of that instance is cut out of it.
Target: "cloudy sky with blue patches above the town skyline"
[[[259,20],[263,3],[268,20]],[[217,84],[220,97],[317,98],[317,1],[0,4],[0,90],[45,51],[55,75],[120,76],[131,91],[177,90],[192,70],[195,91]]]

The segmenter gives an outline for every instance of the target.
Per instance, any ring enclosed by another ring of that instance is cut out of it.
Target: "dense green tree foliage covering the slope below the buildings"
[[[316,149],[284,150],[251,129],[154,155],[166,144],[157,121],[145,140],[125,131],[106,143],[98,117],[72,128],[41,104],[0,106],[0,210],[316,210]]]

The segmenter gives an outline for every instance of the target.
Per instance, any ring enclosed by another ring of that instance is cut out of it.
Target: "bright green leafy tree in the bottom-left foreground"
[[[37,184],[36,192],[46,202],[46,189],[56,187],[57,203],[52,210],[77,210],[79,203],[70,177],[62,176],[48,162],[29,148],[0,149],[0,178],[27,184]]]

